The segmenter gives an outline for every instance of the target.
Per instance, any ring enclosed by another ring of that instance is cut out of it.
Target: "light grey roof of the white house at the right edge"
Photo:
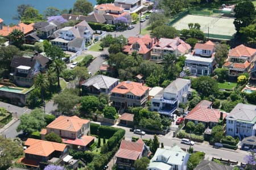
[[[238,103],[226,118],[241,121],[256,121],[256,105]]]

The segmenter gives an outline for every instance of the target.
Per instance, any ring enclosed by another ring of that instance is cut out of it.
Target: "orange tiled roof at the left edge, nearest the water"
[[[11,32],[14,31],[14,29],[19,29],[24,34],[27,34],[28,32],[33,31],[33,27],[32,27],[33,25],[34,25],[34,23],[27,25],[27,24],[20,22],[18,25],[15,25],[14,27],[3,26],[3,29],[0,30],[0,35],[8,36]]]

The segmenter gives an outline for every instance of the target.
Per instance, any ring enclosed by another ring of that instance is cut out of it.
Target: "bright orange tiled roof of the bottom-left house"
[[[28,148],[24,151],[26,154],[49,156],[54,151],[63,152],[68,145],[63,143],[42,141],[38,139],[28,138],[25,142]]]

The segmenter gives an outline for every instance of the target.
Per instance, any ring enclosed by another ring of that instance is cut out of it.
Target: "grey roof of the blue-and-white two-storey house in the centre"
[[[169,84],[165,89],[164,92],[170,94],[177,94],[184,86],[186,86],[191,80],[177,78],[171,84]]]

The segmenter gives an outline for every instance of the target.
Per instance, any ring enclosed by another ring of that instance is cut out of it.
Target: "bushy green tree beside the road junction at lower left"
[[[45,114],[42,109],[34,109],[31,113],[22,114],[22,116],[20,116],[20,124],[16,130],[22,130],[28,134],[34,131],[40,131],[46,126],[44,117]]]

